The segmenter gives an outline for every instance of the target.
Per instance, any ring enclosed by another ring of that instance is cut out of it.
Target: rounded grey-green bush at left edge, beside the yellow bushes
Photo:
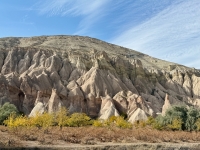
[[[0,124],[3,124],[4,120],[6,120],[10,114],[18,114],[18,110],[15,105],[10,104],[9,102],[5,103],[2,107],[0,107]]]

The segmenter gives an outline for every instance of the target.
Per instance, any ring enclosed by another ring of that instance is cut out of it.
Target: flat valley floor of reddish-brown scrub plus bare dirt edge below
[[[150,128],[52,127],[8,129],[0,126],[0,149],[200,149],[200,132]]]

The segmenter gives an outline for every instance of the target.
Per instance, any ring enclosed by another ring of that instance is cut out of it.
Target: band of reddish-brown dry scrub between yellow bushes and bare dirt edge
[[[77,143],[77,144],[96,144],[101,142],[113,143],[136,143],[136,142],[200,142],[200,132],[185,131],[159,131],[151,128],[103,128],[103,127],[52,127],[48,130],[38,128],[17,128],[8,129],[0,126],[0,132],[14,139],[4,139],[0,141],[7,144],[16,144],[22,141],[36,141],[42,145],[59,144],[59,142]],[[5,136],[4,136],[5,137]],[[18,142],[16,142],[18,139]]]

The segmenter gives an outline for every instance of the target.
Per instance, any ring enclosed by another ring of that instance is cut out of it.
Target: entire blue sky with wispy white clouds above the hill
[[[1,0],[0,37],[83,35],[200,69],[200,0]]]

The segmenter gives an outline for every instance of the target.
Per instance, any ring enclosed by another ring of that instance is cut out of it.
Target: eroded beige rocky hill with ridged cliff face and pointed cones
[[[27,115],[65,106],[129,121],[174,104],[200,106],[200,72],[80,36],[0,39],[0,105]]]

